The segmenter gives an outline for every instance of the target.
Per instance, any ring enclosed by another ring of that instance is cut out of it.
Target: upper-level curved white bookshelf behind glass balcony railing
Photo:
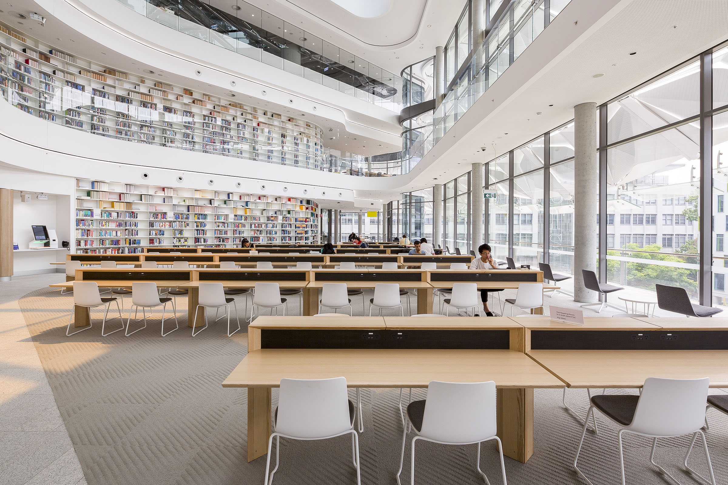
[[[315,124],[117,71],[2,23],[0,92],[25,113],[98,136],[323,169]]]

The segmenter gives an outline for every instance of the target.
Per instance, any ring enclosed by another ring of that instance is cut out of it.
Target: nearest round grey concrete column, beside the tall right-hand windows
[[[582,277],[582,269],[596,272],[599,242],[596,140],[596,103],[574,106],[574,301],[583,303],[598,301],[597,293],[585,288]]]

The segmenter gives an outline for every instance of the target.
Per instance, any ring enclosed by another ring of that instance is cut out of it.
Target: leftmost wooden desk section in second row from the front
[[[157,288],[177,288],[191,281],[193,269],[170,268],[100,268],[92,266],[76,270],[75,281],[94,281],[99,288],[131,289],[135,281],[157,284]],[[51,288],[73,288],[74,281],[54,283]],[[74,326],[90,325],[86,307],[74,307]]]

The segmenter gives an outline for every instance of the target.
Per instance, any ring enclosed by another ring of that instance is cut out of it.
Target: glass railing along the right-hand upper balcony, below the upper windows
[[[550,23],[569,1],[550,0],[548,9],[545,0],[511,1],[470,63],[459,71],[459,80],[435,110],[430,132],[403,154],[403,164],[414,167],[544,30],[545,16]]]

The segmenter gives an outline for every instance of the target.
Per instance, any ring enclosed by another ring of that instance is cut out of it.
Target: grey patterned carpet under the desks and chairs
[[[367,294],[366,299],[369,297]],[[296,300],[291,313],[296,313]],[[360,298],[353,300],[355,305],[357,300],[361,302]],[[178,298],[178,302],[183,322],[186,299]],[[72,297],[61,296],[58,291],[39,290],[20,300],[89,484],[263,483],[265,457],[251,463],[245,460],[246,391],[223,389],[220,385],[245,356],[247,334],[226,337],[220,321],[194,338],[183,323],[177,332],[160,337],[157,312],[146,329],[130,337],[124,337],[123,332],[101,337],[100,321],[90,330],[66,337],[71,305]],[[356,312],[361,314],[362,309],[355,306]],[[100,316],[100,312],[94,313],[95,318]],[[111,320],[109,325],[118,325],[118,320]],[[609,390],[617,392],[622,391]],[[561,390],[537,390],[535,394],[534,456],[526,464],[506,458],[509,483],[583,483],[571,470],[581,428],[561,408]],[[425,395],[425,390],[415,390],[413,398]],[[363,390],[363,484],[396,483],[402,439],[397,398],[396,390]],[[582,414],[586,402],[584,390],[569,391],[569,404]],[[707,436],[713,468],[717,481],[726,483],[728,419],[713,411],[709,420]],[[603,417],[598,423],[600,433],[587,433],[580,459],[583,461],[579,463],[595,484],[620,483],[617,428]],[[348,437],[282,441],[282,464],[274,483],[354,484],[350,443]],[[665,468],[670,473],[674,470],[683,484],[695,484],[678,469],[687,444],[687,438],[662,440],[658,460],[667,463]],[[629,484],[665,483],[649,465],[649,446],[644,438],[625,439]],[[416,447],[417,484],[483,483],[475,472],[475,445],[419,441]],[[409,451],[408,444],[403,471],[406,483],[410,476]],[[702,452],[696,450],[692,456],[692,463],[705,472]],[[501,483],[497,454],[491,444],[483,446],[481,467],[491,484]]]

